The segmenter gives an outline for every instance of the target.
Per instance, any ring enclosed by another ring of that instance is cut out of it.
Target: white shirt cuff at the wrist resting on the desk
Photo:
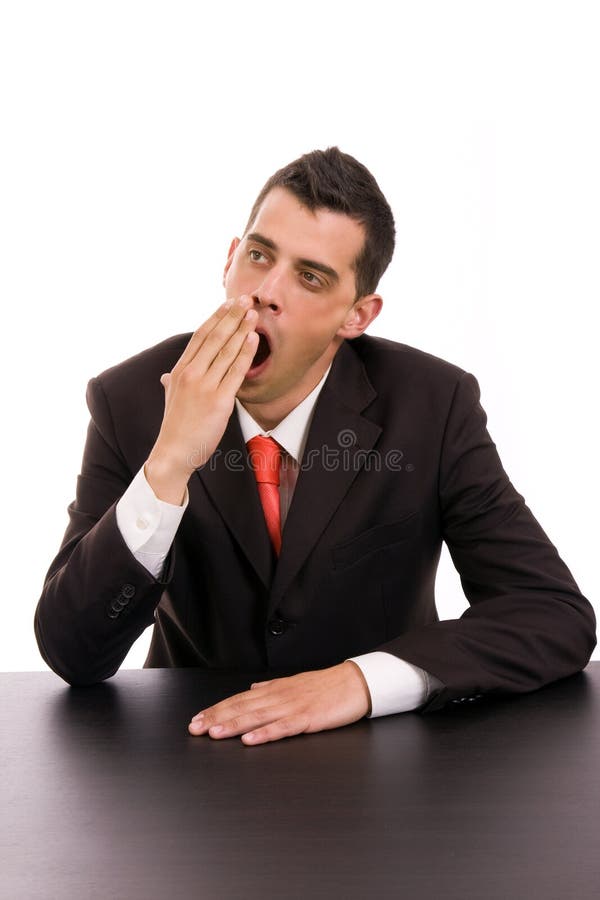
[[[376,650],[350,659],[360,668],[367,682],[371,694],[370,719],[417,709],[434,691],[443,687],[435,675],[392,653]]]

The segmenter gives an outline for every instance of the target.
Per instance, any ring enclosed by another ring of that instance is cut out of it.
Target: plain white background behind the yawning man
[[[44,668],[32,618],[88,378],[200,324],[263,182],[330,144],[397,219],[372,332],[475,373],[506,469],[595,601],[598,4],[0,9],[0,668]],[[437,595],[444,617],[465,607],[447,556]]]

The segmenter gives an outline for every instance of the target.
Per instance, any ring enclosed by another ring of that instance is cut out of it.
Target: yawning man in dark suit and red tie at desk
[[[266,673],[189,725],[258,744],[587,663],[593,611],[502,469],[473,376],[363,334],[393,246],[368,170],[307,154],[232,242],[228,300],[90,382],[35,623],[67,681],[110,677],[153,624],[147,665]],[[471,606],[439,622],[442,540]]]

